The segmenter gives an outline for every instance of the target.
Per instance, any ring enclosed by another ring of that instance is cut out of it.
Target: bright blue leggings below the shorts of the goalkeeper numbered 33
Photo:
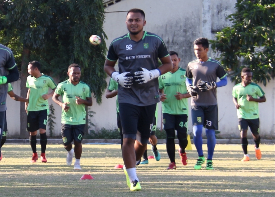
[[[203,130],[203,125],[194,125],[193,126],[193,132],[194,132],[193,140],[194,140],[194,144],[197,148],[199,157],[203,156],[203,149],[202,149],[203,140],[201,137],[202,130]],[[205,129],[205,133],[207,136],[207,151],[208,151],[207,159],[212,160],[215,145],[216,145],[215,130],[214,129]]]

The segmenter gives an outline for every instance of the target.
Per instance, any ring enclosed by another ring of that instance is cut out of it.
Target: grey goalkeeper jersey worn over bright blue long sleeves
[[[198,86],[200,81],[217,81],[217,77],[220,79],[226,77],[227,73],[222,68],[220,62],[217,60],[209,59],[206,62],[201,63],[199,60],[193,60],[189,62],[185,76],[188,79],[193,79],[193,84]],[[191,105],[217,105],[217,89],[213,88],[206,92],[199,91],[199,95],[191,97]]]

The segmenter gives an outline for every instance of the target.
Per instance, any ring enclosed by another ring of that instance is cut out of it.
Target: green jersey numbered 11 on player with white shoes
[[[80,81],[77,85],[74,86],[68,79],[58,84],[55,93],[61,95],[63,103],[70,102],[70,108],[68,111],[65,111],[62,108],[61,123],[74,125],[85,124],[85,105],[77,105],[75,100],[76,96],[80,97],[81,99],[91,97],[90,87],[82,81]]]

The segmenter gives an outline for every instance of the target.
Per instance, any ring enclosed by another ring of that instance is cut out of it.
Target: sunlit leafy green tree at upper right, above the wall
[[[210,40],[231,80],[241,81],[240,72],[249,67],[253,80],[265,86],[274,76],[274,0],[237,0],[235,13],[228,16],[231,27]]]

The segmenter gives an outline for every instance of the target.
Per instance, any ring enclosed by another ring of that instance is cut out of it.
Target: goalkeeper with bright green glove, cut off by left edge
[[[8,72],[9,71],[9,74]],[[4,128],[5,116],[6,116],[6,99],[8,92],[8,83],[17,81],[19,78],[19,72],[14,61],[14,57],[10,48],[0,44],[0,133]],[[0,135],[0,140],[2,135]],[[0,156],[1,156],[0,148]]]

